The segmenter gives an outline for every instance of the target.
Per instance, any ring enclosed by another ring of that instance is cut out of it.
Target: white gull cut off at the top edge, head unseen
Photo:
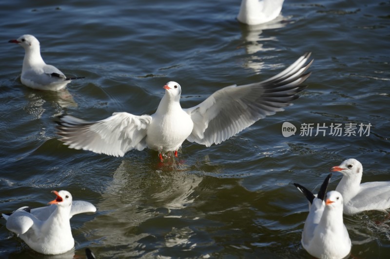
[[[237,19],[248,25],[266,23],[276,18],[284,0],[242,0]]]

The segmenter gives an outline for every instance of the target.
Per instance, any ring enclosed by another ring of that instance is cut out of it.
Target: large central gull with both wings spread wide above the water
[[[59,118],[58,134],[70,148],[98,154],[123,156],[132,149],[148,147],[161,153],[177,150],[184,140],[207,147],[219,144],[254,122],[290,105],[299,86],[311,73],[311,53],[306,53],[290,67],[268,80],[244,86],[224,87],[201,104],[188,109],[180,106],[181,87],[168,82],[165,95],[153,115],[136,116],[116,112],[101,121],[83,121],[65,115]]]

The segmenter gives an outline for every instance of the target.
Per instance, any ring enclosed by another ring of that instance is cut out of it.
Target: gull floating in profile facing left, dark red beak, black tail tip
[[[66,77],[56,67],[47,65],[40,56],[39,41],[33,35],[22,35],[8,42],[19,44],[25,51],[20,76],[20,81],[25,86],[39,90],[58,91],[70,81],[84,78]]]

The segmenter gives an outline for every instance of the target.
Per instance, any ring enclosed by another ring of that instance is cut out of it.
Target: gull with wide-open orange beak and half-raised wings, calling
[[[16,233],[31,249],[45,255],[57,255],[75,245],[70,218],[84,212],[95,212],[89,202],[73,201],[66,190],[52,191],[57,198],[47,207],[21,207],[11,215],[2,214],[8,230]]]

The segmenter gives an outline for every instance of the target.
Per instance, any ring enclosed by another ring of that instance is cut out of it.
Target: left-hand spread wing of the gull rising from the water
[[[146,148],[146,129],[151,121],[149,115],[135,116],[126,112],[116,112],[96,122],[65,115],[59,118],[57,129],[60,140],[70,148],[123,156],[129,150]]]

